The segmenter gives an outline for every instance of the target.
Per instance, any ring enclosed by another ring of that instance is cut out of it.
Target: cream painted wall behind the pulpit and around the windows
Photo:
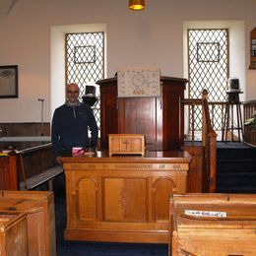
[[[44,98],[45,121],[50,121],[65,98],[58,90],[64,86],[59,29],[87,24],[105,26],[106,77],[120,66],[143,65],[183,77],[184,22],[234,21],[238,36],[232,71],[243,80],[245,99],[256,98],[256,70],[248,70],[255,10],[255,0],[147,0],[144,12],[130,11],[128,0],[18,0],[9,14],[0,16],[0,65],[19,65],[19,97],[0,99],[0,122],[40,122],[37,98]]]

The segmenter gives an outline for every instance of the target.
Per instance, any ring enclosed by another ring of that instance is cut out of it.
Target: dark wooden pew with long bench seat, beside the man
[[[61,173],[51,143],[12,151],[0,159],[0,190],[30,190],[45,182],[52,190],[54,178]]]

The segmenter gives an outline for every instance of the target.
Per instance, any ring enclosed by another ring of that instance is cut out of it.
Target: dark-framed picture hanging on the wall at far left
[[[0,66],[0,98],[18,97],[18,65]]]

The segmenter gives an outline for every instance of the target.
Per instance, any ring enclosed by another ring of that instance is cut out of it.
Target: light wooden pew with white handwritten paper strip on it
[[[256,255],[256,195],[187,194],[170,201],[169,255]]]

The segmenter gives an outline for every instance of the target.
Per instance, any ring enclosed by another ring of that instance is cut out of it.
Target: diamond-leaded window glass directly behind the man
[[[100,127],[100,100],[96,81],[104,78],[104,33],[81,32],[66,34],[66,83],[76,83],[80,100],[86,86],[96,86],[98,100],[93,106],[98,128]]]

